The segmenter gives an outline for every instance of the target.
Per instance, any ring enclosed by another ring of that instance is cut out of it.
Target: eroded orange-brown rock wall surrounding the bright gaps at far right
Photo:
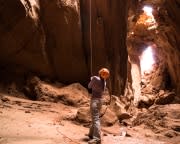
[[[143,16],[142,11],[145,5],[153,8],[154,19],[157,24],[147,23],[147,17]],[[180,92],[179,5],[179,0],[141,0],[131,3],[127,42],[130,59],[138,59],[147,46],[152,46],[156,61],[155,67],[158,70],[149,75],[151,76],[149,79],[151,86],[154,87],[153,89],[159,90],[175,89],[178,96]],[[132,61],[131,64],[139,65]],[[153,92],[153,89],[149,90]]]

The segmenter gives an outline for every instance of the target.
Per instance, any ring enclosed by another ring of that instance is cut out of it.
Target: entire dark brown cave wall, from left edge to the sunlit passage
[[[113,94],[122,94],[128,1],[91,2],[93,54],[89,0],[0,0],[1,69],[18,66],[63,83],[87,84],[91,74],[107,67]]]

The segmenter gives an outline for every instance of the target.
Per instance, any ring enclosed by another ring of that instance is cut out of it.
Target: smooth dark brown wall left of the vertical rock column
[[[78,1],[1,1],[1,64],[64,83],[87,78]]]

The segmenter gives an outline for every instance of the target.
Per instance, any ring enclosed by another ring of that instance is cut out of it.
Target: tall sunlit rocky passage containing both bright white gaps
[[[159,43],[157,37],[162,28],[157,17],[159,8],[150,4],[139,7],[141,11],[130,12],[128,19],[128,82],[131,83],[134,105],[149,107],[157,98],[167,98],[174,88],[168,54],[163,51],[165,42]]]

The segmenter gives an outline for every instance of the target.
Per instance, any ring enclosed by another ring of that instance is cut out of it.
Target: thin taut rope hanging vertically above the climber
[[[89,0],[89,40],[90,40],[90,69],[93,74],[93,50],[92,50],[92,2]]]

